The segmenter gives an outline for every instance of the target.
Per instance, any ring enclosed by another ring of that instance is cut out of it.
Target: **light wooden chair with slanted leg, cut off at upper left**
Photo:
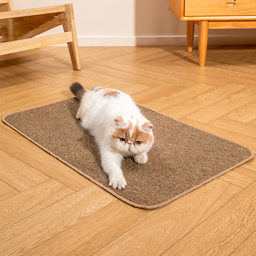
[[[64,32],[37,36],[59,25]],[[0,55],[68,43],[73,68],[81,69],[72,4],[14,11],[12,0],[0,0]]]

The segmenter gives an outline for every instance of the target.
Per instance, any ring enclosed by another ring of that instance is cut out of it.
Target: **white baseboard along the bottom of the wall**
[[[79,46],[186,45],[186,36],[78,36]],[[255,35],[208,36],[208,45],[256,44]],[[198,36],[194,37],[198,45]]]

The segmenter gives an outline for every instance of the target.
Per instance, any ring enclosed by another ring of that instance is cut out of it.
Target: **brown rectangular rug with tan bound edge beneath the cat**
[[[172,202],[253,158],[240,144],[139,106],[154,125],[146,164],[122,162],[125,189],[112,189],[93,138],[76,119],[79,102],[68,99],[3,117],[3,122],[120,200],[153,209]]]

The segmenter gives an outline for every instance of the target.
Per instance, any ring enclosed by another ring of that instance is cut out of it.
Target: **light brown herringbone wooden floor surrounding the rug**
[[[72,97],[75,81],[256,152],[256,46],[67,47],[0,56],[0,116]],[[0,124],[0,254],[256,255],[256,158],[155,210],[133,208]],[[164,141],[163,141],[164,143]],[[154,178],[154,175],[152,175]]]

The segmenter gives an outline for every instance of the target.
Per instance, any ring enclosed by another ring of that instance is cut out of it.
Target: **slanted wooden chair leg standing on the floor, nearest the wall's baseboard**
[[[76,36],[76,25],[75,25],[75,18],[73,12],[72,4],[66,5],[66,20],[63,22],[63,29],[64,32],[71,31],[73,41],[68,43],[68,50],[71,58],[71,62],[73,68],[76,70],[81,69],[80,57],[78,52],[78,43],[77,43],[77,36]]]

